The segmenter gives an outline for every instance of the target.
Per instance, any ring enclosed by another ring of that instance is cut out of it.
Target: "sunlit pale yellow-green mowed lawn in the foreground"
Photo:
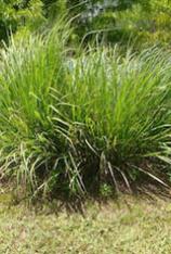
[[[122,196],[90,202],[84,215],[52,208],[35,212],[0,198],[2,254],[170,254],[171,202]],[[55,206],[55,205],[54,205]]]

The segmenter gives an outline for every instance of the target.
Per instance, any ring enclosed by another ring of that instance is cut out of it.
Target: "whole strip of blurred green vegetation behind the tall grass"
[[[74,43],[170,45],[170,0],[0,0],[0,41],[49,27],[64,13]]]

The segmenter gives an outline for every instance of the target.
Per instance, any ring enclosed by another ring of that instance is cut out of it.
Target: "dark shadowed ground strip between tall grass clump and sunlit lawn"
[[[122,204],[124,204],[127,208],[131,211],[132,204],[130,203],[130,200],[132,199],[142,201],[147,200],[153,204],[155,204],[158,199],[167,201],[171,199],[171,188],[166,188],[153,180],[148,180],[148,182],[141,181],[139,185],[136,182],[136,185],[131,186],[130,190],[126,188],[123,183],[120,183],[119,192],[116,192],[115,189],[113,189],[113,192],[108,195],[104,195],[96,190],[87,193],[84,196],[77,198],[58,193],[56,193],[56,195],[53,193],[53,195],[49,198],[32,198],[31,195],[22,196],[24,193],[22,190],[19,194],[16,194],[15,190],[10,189],[9,191],[8,188],[9,187],[5,187],[5,191],[1,194],[1,199],[3,199],[2,196],[5,196],[4,199],[6,200],[8,196],[9,207],[17,206],[22,203],[35,213],[53,213],[56,216],[65,211],[68,216],[78,213],[86,217],[87,207],[89,207],[90,204],[96,204],[101,209],[101,207],[104,207],[105,205],[107,206],[110,202],[115,202],[117,208],[120,209]]]

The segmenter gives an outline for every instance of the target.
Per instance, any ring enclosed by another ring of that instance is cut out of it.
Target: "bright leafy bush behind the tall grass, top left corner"
[[[11,33],[27,35],[38,29],[44,22],[42,2],[31,1],[0,1],[0,40],[8,41]]]

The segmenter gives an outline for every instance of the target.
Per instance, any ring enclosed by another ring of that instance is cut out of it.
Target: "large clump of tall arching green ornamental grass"
[[[70,33],[58,24],[1,52],[2,176],[35,194],[130,189],[144,175],[165,185],[170,52],[89,48],[71,59]]]

